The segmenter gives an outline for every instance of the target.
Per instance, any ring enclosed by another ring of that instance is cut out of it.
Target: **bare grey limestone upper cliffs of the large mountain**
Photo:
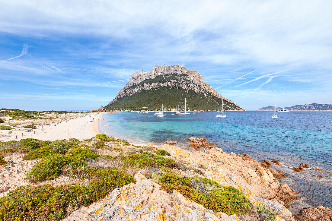
[[[169,76],[170,74],[172,75],[172,78],[162,79],[162,77]],[[153,81],[152,79],[155,79],[156,77],[161,77],[161,79]],[[151,79],[152,81],[144,82],[148,79]],[[235,104],[233,101],[230,101],[218,94],[208,83],[204,81],[204,78],[200,75],[200,73],[195,70],[188,70],[179,64],[155,65],[153,66],[152,72],[144,70],[137,71],[130,76],[128,83],[119,91],[114,100],[109,104],[112,104],[125,96],[131,96],[141,91],[156,89],[162,86],[193,90],[203,94],[209,92],[211,95],[219,99]]]

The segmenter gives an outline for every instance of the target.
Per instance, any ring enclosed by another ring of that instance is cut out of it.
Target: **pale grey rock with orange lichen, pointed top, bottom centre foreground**
[[[76,210],[64,221],[240,221],[235,214],[213,213],[176,190],[169,194],[140,173],[134,177],[136,184],[114,189],[99,205]]]

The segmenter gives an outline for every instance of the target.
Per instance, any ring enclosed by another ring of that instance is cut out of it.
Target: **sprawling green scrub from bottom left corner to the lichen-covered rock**
[[[136,183],[118,169],[93,170],[93,179],[86,185],[20,186],[0,199],[0,220],[62,220],[68,209],[76,210],[103,198],[108,192]]]

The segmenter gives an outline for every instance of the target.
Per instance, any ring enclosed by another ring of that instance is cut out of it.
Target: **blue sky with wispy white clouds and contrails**
[[[246,110],[332,103],[332,1],[0,0],[0,108],[94,110],[181,64]],[[175,101],[176,104],[178,101]]]

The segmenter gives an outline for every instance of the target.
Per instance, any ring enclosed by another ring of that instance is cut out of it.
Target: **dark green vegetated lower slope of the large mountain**
[[[105,106],[104,108],[107,110],[142,110],[143,107],[145,107],[146,105],[149,110],[157,110],[158,105],[161,106],[162,104],[164,104],[164,107],[166,109],[177,108],[180,97],[182,97],[183,102],[184,99],[187,98],[187,103],[190,110],[194,110],[195,105],[196,110],[197,108],[199,108],[199,110],[221,109],[221,99],[213,96],[210,92],[206,91],[203,94],[195,91],[187,91],[182,88],[172,88],[166,86],[162,86],[157,89],[142,91],[131,96],[125,96],[120,100]],[[224,110],[241,110],[240,107],[236,106],[233,103],[227,102],[225,100],[223,101],[223,103]]]

